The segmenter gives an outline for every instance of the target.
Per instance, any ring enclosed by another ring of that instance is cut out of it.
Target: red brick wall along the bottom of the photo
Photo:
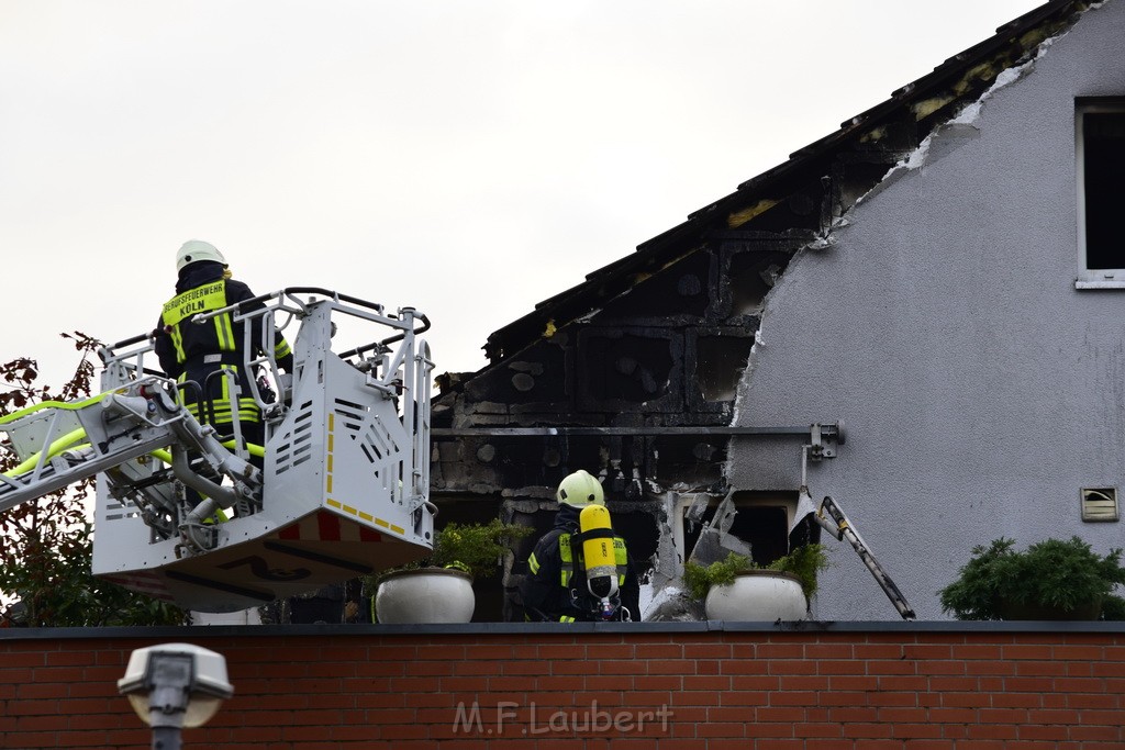
[[[1125,748],[1114,623],[867,625],[0,631],[0,747],[148,747],[116,680],[186,641],[235,696],[184,747]]]

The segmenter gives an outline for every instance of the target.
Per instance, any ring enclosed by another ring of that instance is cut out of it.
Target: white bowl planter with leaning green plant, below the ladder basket
[[[497,561],[532,531],[494,518],[486,524],[450,523],[434,535],[433,552],[406,566],[368,577],[376,594],[372,621],[467,623],[476,598],[472,581],[496,572]]]

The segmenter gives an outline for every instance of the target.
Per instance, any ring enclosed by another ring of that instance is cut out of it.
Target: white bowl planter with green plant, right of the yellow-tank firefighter
[[[803,620],[817,591],[817,576],[828,567],[821,544],[806,544],[762,568],[750,558],[731,552],[704,566],[688,561],[684,584],[703,602],[708,620]]]

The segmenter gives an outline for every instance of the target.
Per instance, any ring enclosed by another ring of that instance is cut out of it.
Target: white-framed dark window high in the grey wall
[[[1076,107],[1078,288],[1125,288],[1125,241],[1118,226],[1125,204],[1125,99],[1079,100]]]

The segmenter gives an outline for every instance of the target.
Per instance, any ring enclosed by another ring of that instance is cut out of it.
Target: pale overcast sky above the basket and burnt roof
[[[1034,0],[0,0],[0,361],[259,293],[426,313],[438,371]]]

